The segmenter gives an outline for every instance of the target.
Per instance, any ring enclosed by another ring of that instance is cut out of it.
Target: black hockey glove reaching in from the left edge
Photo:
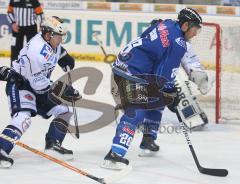
[[[27,83],[23,76],[6,66],[0,67],[0,80],[15,83],[18,88]]]

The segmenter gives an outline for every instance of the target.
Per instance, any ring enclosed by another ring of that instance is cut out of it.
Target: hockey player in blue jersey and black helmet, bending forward
[[[197,35],[201,23],[195,10],[185,8],[177,21],[166,19],[153,24],[120,51],[113,73],[124,115],[102,167],[122,169],[129,164],[124,156],[149,109],[161,111],[167,105],[176,111],[179,98],[175,73],[186,52],[186,41]]]

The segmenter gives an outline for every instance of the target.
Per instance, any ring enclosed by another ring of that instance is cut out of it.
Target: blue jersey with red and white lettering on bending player
[[[113,72],[129,80],[142,74],[161,76],[170,84],[185,52],[186,41],[179,24],[166,19],[131,41],[113,63]]]

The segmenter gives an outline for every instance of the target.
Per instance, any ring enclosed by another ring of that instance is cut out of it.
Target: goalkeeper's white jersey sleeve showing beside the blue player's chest
[[[184,56],[181,60],[181,65],[185,72],[189,75],[190,70],[203,70],[203,66],[200,63],[198,56],[195,54],[192,45],[189,42],[187,44],[187,52],[185,52]]]

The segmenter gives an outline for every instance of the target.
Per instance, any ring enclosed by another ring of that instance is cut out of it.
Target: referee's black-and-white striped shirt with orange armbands
[[[44,14],[38,0],[10,0],[7,18],[11,24],[31,26],[37,21],[41,24]]]

